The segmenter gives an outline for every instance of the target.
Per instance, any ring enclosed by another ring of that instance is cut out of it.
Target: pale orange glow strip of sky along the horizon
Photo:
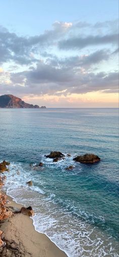
[[[46,105],[47,107],[118,107],[118,93],[90,92],[69,95],[27,95],[23,100],[29,103]]]

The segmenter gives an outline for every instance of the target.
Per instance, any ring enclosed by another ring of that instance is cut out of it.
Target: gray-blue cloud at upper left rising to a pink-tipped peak
[[[52,30],[46,30],[38,36],[23,37],[10,33],[6,28],[0,27],[0,63],[14,60],[17,63],[28,65],[36,62],[34,53],[52,44],[53,41],[66,34],[72,23],[54,22]]]

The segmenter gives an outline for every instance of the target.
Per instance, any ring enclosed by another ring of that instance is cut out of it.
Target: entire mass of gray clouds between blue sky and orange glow
[[[25,67],[23,72],[16,73],[11,71],[9,84],[6,80],[0,83],[0,93],[59,95],[64,91],[67,95],[117,92],[117,71],[107,73],[98,68],[117,54],[117,44],[116,21],[95,25],[55,22],[51,30],[31,37],[18,36],[1,27],[1,65],[12,61],[21,67],[27,65],[28,69]],[[79,54],[79,50],[84,48],[86,54]],[[63,57],[64,50],[74,50],[75,54],[70,52],[68,57]],[[56,56],[57,51],[61,57]],[[8,73],[0,75],[6,77]]]

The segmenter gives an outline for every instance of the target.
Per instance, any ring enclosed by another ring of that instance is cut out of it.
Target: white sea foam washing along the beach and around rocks
[[[68,165],[72,164],[72,157],[68,157]],[[52,163],[51,159],[42,158],[45,166],[61,167],[65,169],[67,161],[61,160],[58,163]],[[74,163],[73,163],[74,164]],[[19,170],[20,174],[17,174]],[[67,173],[67,172],[66,172]],[[10,172],[7,172],[7,181],[5,189],[7,194],[15,199],[16,202],[26,205],[32,203],[35,211],[33,224],[39,232],[45,233],[59,248],[65,250],[69,257],[118,257],[117,244],[112,237],[108,237],[104,232],[80,220],[77,215],[76,205],[66,202],[65,209],[62,208],[63,201],[59,198],[55,202],[55,194],[47,195],[47,191],[40,186],[28,187],[26,181],[38,178],[38,172],[25,172],[21,163],[12,163]],[[35,183],[35,181],[34,181]],[[43,185],[43,181],[40,180]],[[71,213],[69,213],[69,210]],[[83,210],[81,210],[82,214]],[[84,213],[86,217],[86,213]],[[88,215],[87,215],[88,218]]]

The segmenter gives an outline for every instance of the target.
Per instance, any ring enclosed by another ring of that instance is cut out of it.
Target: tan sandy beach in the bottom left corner
[[[8,206],[19,209],[23,206],[10,197],[8,199],[11,202]],[[4,231],[2,239],[7,243],[0,249],[1,257],[67,257],[46,235],[35,231],[33,220],[26,215],[14,214],[0,223],[0,229]]]

